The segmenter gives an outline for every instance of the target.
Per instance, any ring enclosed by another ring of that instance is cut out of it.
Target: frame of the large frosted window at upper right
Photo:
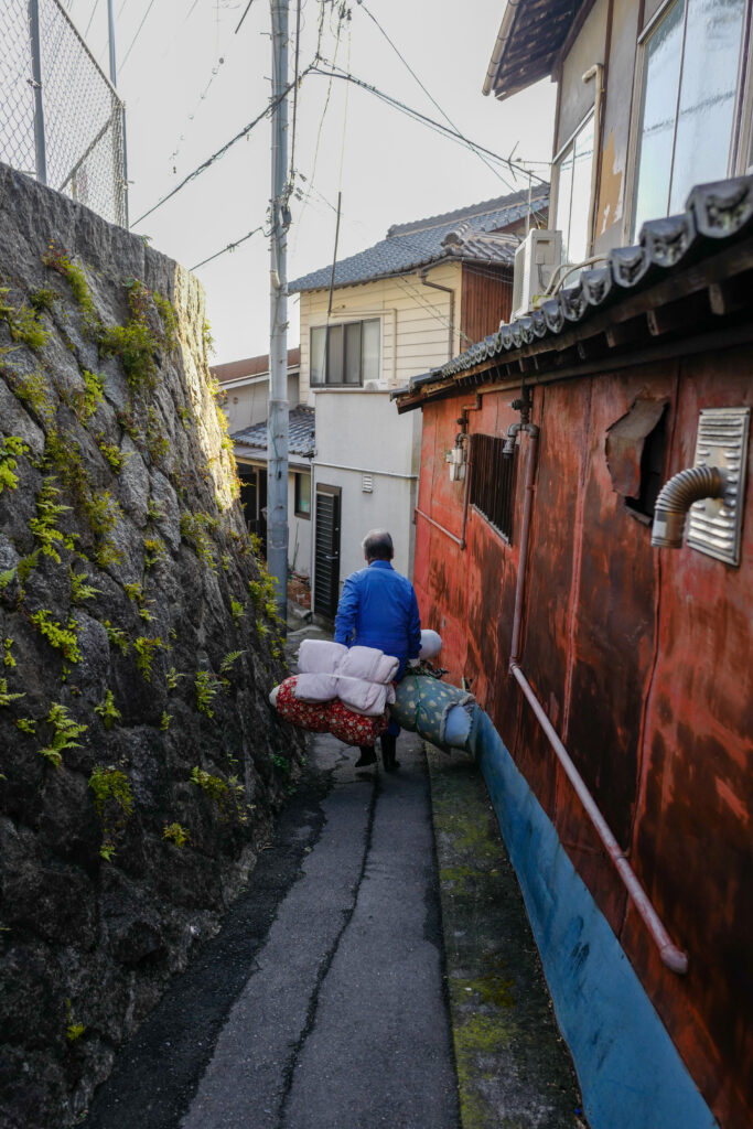
[[[632,86],[632,103],[630,107],[630,131],[629,131],[629,143],[628,143],[628,161],[625,170],[625,208],[624,208],[624,227],[623,227],[623,244],[633,244],[639,235],[636,230],[636,212],[637,212],[637,198],[636,191],[638,187],[638,174],[639,174],[639,150],[640,150],[640,134],[642,126],[642,103],[643,103],[643,79],[646,77],[646,59],[647,51],[646,45],[650,40],[654,32],[657,29],[659,24],[666,19],[669,15],[671,9],[677,3],[678,0],[664,0],[660,3],[654,15],[643,25],[643,27],[638,33],[638,38],[636,42],[636,63],[633,69],[633,86]],[[680,60],[680,75],[677,80],[677,98],[680,97],[680,91],[682,88],[682,76],[685,67],[685,28],[688,23],[688,6],[690,0],[684,0],[685,11],[683,15],[683,33],[682,33],[682,58]],[[729,138],[729,150],[727,154],[727,168],[725,176],[734,176],[736,174],[745,172],[744,168],[739,168],[742,156],[745,152],[745,145],[751,146],[753,142],[753,112],[751,111],[751,98],[753,96],[753,84],[751,82],[751,5],[750,0],[746,0],[745,16],[743,20],[743,36],[741,42],[739,56],[737,60],[737,80],[735,85],[735,110],[732,121],[732,131]],[[673,138],[673,161],[674,161],[674,150],[676,142],[676,131],[677,123],[675,120],[674,126],[674,138]],[[753,165],[753,149],[751,150],[751,165]],[[672,185],[672,176],[669,180],[669,185]],[[672,189],[669,186],[669,193]],[[668,207],[668,201],[667,201]],[[669,215],[668,211],[665,216]],[[664,219],[665,216],[654,217],[656,219]]]

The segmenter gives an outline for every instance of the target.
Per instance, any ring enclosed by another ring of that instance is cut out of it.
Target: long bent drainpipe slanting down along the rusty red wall
[[[522,413],[523,414],[523,413]],[[514,431],[515,429],[515,431]],[[510,432],[514,435],[510,436]],[[608,826],[606,820],[599,812],[596,800],[588,791],[586,784],[578,772],[577,768],[570,759],[570,754],[560,741],[552,723],[550,721],[546,712],[536,698],[533,686],[526,679],[525,674],[520,668],[520,624],[523,619],[523,597],[525,592],[525,578],[526,578],[526,557],[528,550],[528,533],[531,528],[531,517],[533,511],[533,492],[535,489],[535,460],[536,449],[539,446],[539,428],[531,423],[516,423],[508,430],[508,441],[511,440],[513,447],[515,447],[515,436],[518,431],[527,431],[528,434],[528,458],[526,463],[526,482],[525,482],[525,499],[523,504],[523,519],[520,526],[520,558],[518,562],[518,578],[515,589],[515,612],[513,615],[513,641],[510,647],[510,665],[509,671],[514,676],[523,693],[525,694],[531,708],[533,709],[539,724],[541,725],[544,735],[549,739],[558,761],[562,765],[567,778],[572,785],[578,799],[584,806],[584,809],[588,817],[590,819],[594,829],[601,839],[604,849],[606,850],[610,859],[612,860],[622,884],[624,885],[628,896],[632,901],[636,910],[643,920],[651,938],[654,939],[662,959],[663,964],[671,969],[672,972],[683,974],[688,971],[688,954],[683,953],[669,937],[668,933],[664,928],[664,925],[654,909],[648,894],[641,886],[636,872],[628,863],[624,851],[621,849],[620,843],[615,839],[611,828]],[[669,485],[669,483],[667,483]],[[658,504],[657,504],[658,505]]]

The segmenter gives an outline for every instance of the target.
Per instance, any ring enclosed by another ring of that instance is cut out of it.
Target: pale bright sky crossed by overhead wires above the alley
[[[63,0],[107,70],[107,0]],[[224,364],[269,351],[269,117],[151,215],[164,195],[253,121],[270,97],[269,0],[114,0],[117,88],[126,105],[132,230],[194,268]],[[298,0],[290,0],[290,73]],[[504,0],[300,0],[299,70],[321,54],[359,79],[500,156],[536,161],[549,176],[555,87],[549,81],[498,103],[481,93]],[[239,30],[238,24],[243,18]],[[323,18],[322,18],[323,17]],[[388,38],[387,38],[388,37]],[[396,54],[392,41],[421,84]],[[325,62],[319,65],[327,69]],[[427,93],[428,91],[428,96]],[[437,108],[430,98],[439,105]],[[440,112],[441,111],[441,112]],[[289,149],[292,147],[292,99]],[[307,75],[297,99],[295,192],[288,278],[385,237],[393,224],[478,203],[527,185],[373,94]],[[298,344],[298,300],[288,345]]]

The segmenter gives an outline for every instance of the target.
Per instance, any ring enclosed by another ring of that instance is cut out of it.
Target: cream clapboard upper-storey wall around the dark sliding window
[[[447,263],[428,272],[428,281],[455,292],[454,322],[461,318],[461,265]],[[300,296],[300,401],[312,404],[309,390],[309,329],[326,324],[330,295],[315,290]],[[424,286],[417,273],[383,279],[334,291],[331,323],[378,317],[380,333],[379,388],[402,387],[411,376],[428,373],[450,359],[450,295]],[[396,341],[396,353],[395,353]],[[452,356],[461,349],[457,330]]]

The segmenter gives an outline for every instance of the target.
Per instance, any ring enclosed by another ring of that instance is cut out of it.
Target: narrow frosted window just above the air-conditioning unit
[[[562,259],[580,263],[588,255],[590,184],[594,167],[594,114],[590,113],[555,158],[557,230],[562,233]],[[570,275],[570,281],[573,277]]]

